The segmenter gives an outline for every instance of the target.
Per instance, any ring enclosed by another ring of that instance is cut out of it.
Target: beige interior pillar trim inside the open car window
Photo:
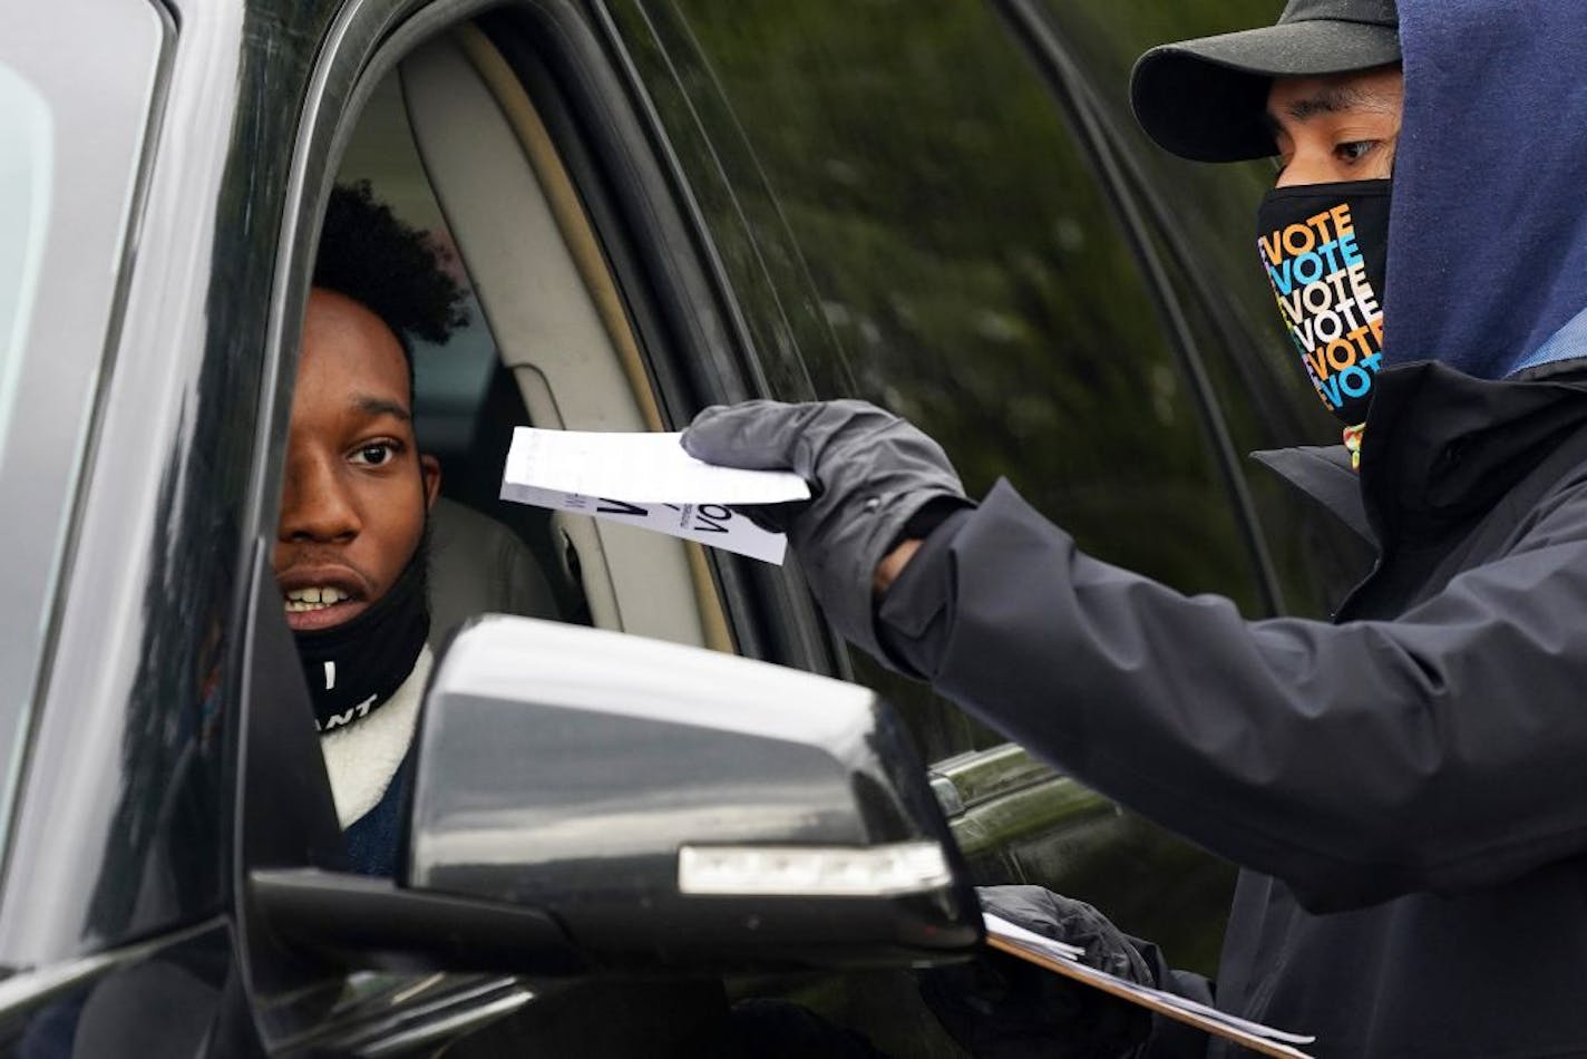
[[[398,76],[424,179],[475,279],[497,359],[457,468],[463,484],[522,527],[551,578],[571,583],[565,618],[732,649],[698,546],[495,499],[513,427],[659,430],[660,402],[584,189],[541,114],[548,100],[476,25],[425,43]]]

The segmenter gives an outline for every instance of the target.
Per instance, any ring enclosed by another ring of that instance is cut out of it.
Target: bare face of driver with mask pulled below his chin
[[[316,287],[287,437],[276,583],[294,630],[338,626],[413,559],[440,465],[413,437],[397,337],[352,298]]]

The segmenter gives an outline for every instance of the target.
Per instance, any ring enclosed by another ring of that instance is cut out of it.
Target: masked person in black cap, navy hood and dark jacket
[[[838,632],[1243,868],[1216,986],[1057,895],[989,899],[1319,1056],[1587,1056],[1582,71],[1579,0],[1290,0],[1135,68],[1163,148],[1284,164],[1255,230],[1276,356],[1351,448],[1266,462],[1379,553],[1328,622],[1098,562],[1008,483],[971,503],[870,405],[684,433],[817,486],[757,518]],[[1054,1054],[1139,1045],[1065,1051],[1060,1022]],[[1222,1054],[1162,1027],[1141,1048]]]

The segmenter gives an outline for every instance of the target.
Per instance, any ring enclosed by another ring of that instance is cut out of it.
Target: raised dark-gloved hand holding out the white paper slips
[[[809,481],[808,503],[760,506],[755,521],[789,535],[827,619],[874,656],[878,564],[925,503],[968,503],[936,441],[862,400],[714,405],[695,416],[682,445],[708,464],[792,470]]]

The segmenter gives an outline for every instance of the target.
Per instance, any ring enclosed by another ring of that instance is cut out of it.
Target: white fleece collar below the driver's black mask
[[[408,680],[379,710],[362,721],[321,734],[319,748],[325,754],[330,794],[336,800],[336,819],[343,830],[379,803],[408,754],[433,660],[430,648],[421,648]]]

